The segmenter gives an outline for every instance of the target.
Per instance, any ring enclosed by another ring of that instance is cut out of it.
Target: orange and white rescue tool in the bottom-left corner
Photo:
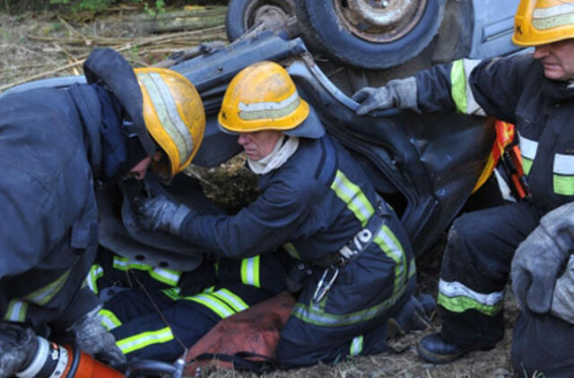
[[[19,378],[123,378],[124,374],[96,361],[78,348],[37,337],[35,357]]]

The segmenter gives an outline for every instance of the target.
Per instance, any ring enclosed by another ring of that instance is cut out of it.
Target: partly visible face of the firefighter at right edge
[[[544,65],[544,75],[548,79],[566,81],[574,78],[574,39],[536,46],[534,56]]]

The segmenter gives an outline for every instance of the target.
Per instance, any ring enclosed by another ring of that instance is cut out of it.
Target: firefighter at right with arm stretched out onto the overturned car
[[[442,329],[421,357],[446,363],[493,348],[512,288],[523,313],[512,362],[521,374],[574,372],[574,1],[523,0],[513,41],[534,53],[443,64],[359,90],[357,113],[457,110],[516,124],[529,185],[526,201],[467,213],[448,235],[439,280]],[[563,271],[566,268],[566,271]]]

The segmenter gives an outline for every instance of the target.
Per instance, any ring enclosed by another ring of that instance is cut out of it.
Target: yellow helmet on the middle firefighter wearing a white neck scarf
[[[252,133],[291,130],[309,116],[289,73],[274,62],[259,62],[241,70],[223,97],[218,121],[223,131]]]

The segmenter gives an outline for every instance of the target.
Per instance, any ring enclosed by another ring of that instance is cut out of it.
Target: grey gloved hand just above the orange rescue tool
[[[68,331],[74,334],[78,347],[109,365],[126,365],[126,356],[117,348],[116,338],[101,324],[100,306],[75,322]]]

